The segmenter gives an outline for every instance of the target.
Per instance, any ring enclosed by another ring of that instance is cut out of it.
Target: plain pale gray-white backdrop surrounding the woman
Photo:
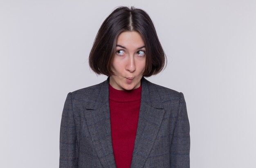
[[[191,168],[256,167],[255,0],[0,0],[0,167],[56,168],[67,93],[119,5],[148,12],[168,65],[149,81],[183,92]]]

